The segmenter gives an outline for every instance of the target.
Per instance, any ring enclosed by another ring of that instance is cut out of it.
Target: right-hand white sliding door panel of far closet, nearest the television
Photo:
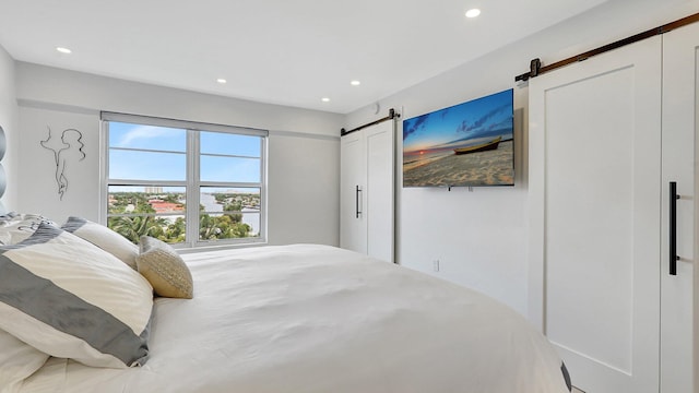
[[[367,253],[393,262],[394,121],[365,130],[367,145]]]

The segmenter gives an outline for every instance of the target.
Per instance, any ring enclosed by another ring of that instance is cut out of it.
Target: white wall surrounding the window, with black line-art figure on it
[[[270,130],[268,239],[271,245],[339,245],[341,115],[225,98],[86,73],[16,63],[22,198],[13,210],[40,212],[62,223],[69,215],[97,221],[99,111],[155,116]],[[85,159],[67,170],[62,199],[48,128],[83,133]]]

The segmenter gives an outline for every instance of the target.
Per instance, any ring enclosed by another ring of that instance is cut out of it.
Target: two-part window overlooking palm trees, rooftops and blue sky
[[[106,224],[134,243],[265,240],[268,132],[103,112]]]

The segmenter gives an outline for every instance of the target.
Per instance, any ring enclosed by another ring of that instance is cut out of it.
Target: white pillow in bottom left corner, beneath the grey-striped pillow
[[[48,355],[0,331],[0,386],[2,392],[14,392],[22,381],[42,368]]]

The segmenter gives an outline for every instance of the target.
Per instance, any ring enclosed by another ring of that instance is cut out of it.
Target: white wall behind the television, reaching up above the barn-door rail
[[[462,64],[379,104],[412,118],[506,88],[514,88],[516,186],[403,189],[402,129],[396,167],[398,261],[404,266],[479,289],[528,313],[528,88],[514,76],[541,58],[548,64],[699,11],[699,1],[612,0],[585,14]],[[526,17],[526,15],[522,15]],[[463,50],[467,50],[464,48]],[[374,107],[347,116],[346,128],[375,119]],[[572,225],[572,223],[571,223]],[[434,272],[434,261],[440,271]]]

